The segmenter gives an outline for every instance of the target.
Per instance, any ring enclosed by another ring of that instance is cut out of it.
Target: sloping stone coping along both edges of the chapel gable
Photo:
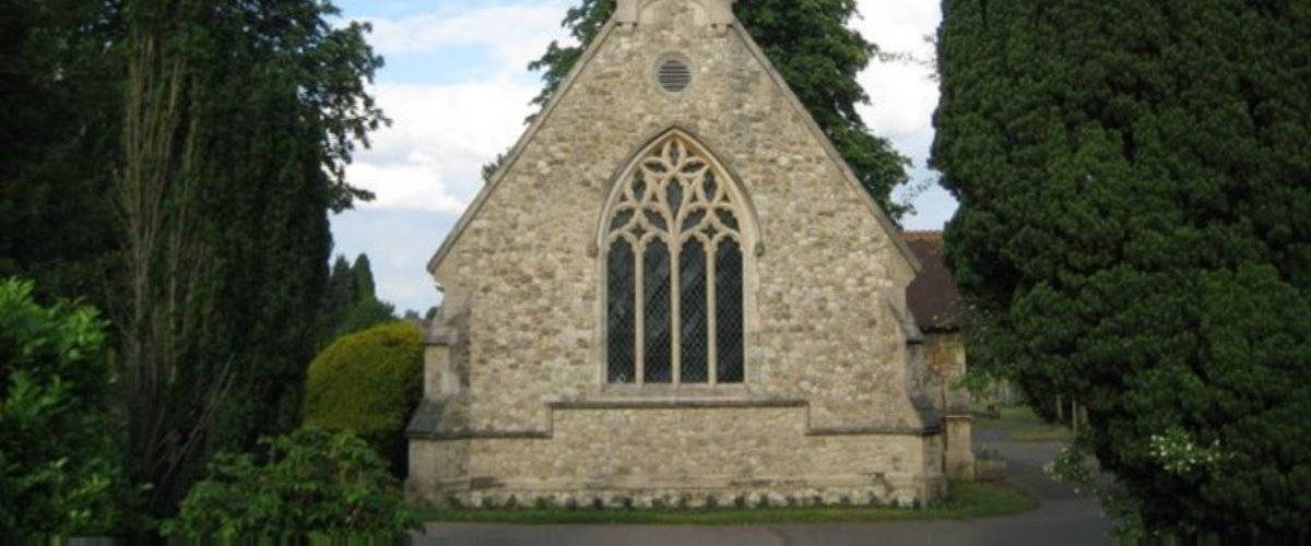
[[[524,148],[527,148],[528,143],[534,140],[534,137],[538,135],[539,131],[541,131],[543,127],[551,123],[556,107],[560,105],[562,98],[570,93],[570,90],[574,86],[574,82],[578,80],[578,76],[585,71],[587,71],[591,62],[597,58],[597,52],[600,51],[600,48],[604,47],[604,45],[611,39],[616,27],[620,27],[623,25],[625,24],[619,21],[619,17],[611,17],[610,21],[607,21],[606,25],[602,27],[600,33],[597,34],[597,38],[593,39],[591,45],[587,46],[582,56],[574,64],[573,69],[560,84],[560,88],[556,89],[555,94],[551,97],[551,101],[547,102],[547,106],[532,120],[532,123],[528,126],[528,130],[524,131],[524,134],[519,137],[514,148],[510,149],[510,153],[506,156],[505,162],[502,162],[501,168],[497,169],[497,172],[492,175],[490,182],[482,186],[482,190],[479,191],[479,195],[473,199],[473,203],[471,203],[469,207],[464,211],[464,213],[460,216],[460,220],[451,229],[451,233],[447,234],[446,240],[442,241],[442,245],[437,249],[437,253],[434,253],[433,258],[429,259],[427,271],[430,274],[434,275],[437,274],[438,267],[440,267],[442,262],[450,254],[451,249],[455,246],[455,242],[459,241],[460,236],[468,228],[469,223],[479,215],[479,212],[481,211],[486,200],[490,198],[490,195],[496,192],[497,187],[506,178],[506,174],[515,168],[515,165],[519,161],[519,157],[523,155],[523,151]],[[637,24],[629,22],[627,25],[636,26]],[[810,115],[810,111],[806,110],[806,107],[801,103],[801,100],[792,90],[788,82],[783,79],[783,75],[779,73],[779,71],[773,67],[773,63],[771,63],[770,59],[764,55],[764,51],[760,50],[760,46],[756,45],[755,39],[753,39],[751,35],[746,31],[746,29],[742,27],[742,24],[737,21],[735,16],[733,17],[733,22],[728,24],[726,27],[730,29],[738,37],[738,39],[741,39],[742,43],[746,45],[747,51],[751,52],[751,56],[755,59],[755,62],[764,68],[764,72],[770,76],[770,80],[783,93],[783,96],[787,98],[792,109],[800,115],[802,120],[805,120],[806,127],[809,128],[814,139],[821,143],[829,158],[834,161],[835,165],[839,166],[843,178],[847,181],[848,185],[851,185],[856,190],[856,194],[860,195],[865,207],[878,220],[878,224],[884,228],[888,240],[893,244],[894,247],[897,247],[899,255],[911,266],[914,271],[919,271],[920,270],[919,259],[915,257],[915,253],[911,251],[910,246],[906,245],[906,241],[902,240],[901,228],[898,228],[897,224],[891,221],[891,219],[882,209],[882,207],[880,207],[878,203],[874,202],[874,199],[869,195],[869,192],[865,191],[864,186],[860,183],[860,179],[856,178],[856,174],[851,170],[851,166],[847,165],[847,161],[842,157],[842,153],[838,152],[838,148],[834,147],[829,136],[814,120],[814,117]]]

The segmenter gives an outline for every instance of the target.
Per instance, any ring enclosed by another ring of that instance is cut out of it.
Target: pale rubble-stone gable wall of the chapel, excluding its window
[[[439,415],[429,432],[468,439],[412,441],[412,486],[426,483],[412,487],[417,494],[433,495],[447,478],[471,488],[476,477],[501,491],[583,478],[687,486],[713,482],[697,469],[729,465],[764,481],[798,470],[847,481],[882,473],[905,479],[889,491],[936,496],[940,474],[922,462],[926,445],[940,440],[912,431],[939,423],[926,423],[910,402],[893,310],[905,316],[910,262],[738,30],[697,25],[688,1],[645,4],[640,25],[610,30],[434,271],[446,291],[439,327],[456,333],[442,369],[460,377],[429,381],[460,390],[429,397],[425,406]],[[678,94],[654,81],[657,59],[670,52],[694,72]],[[798,399],[810,429],[881,433],[805,436],[801,409],[551,409],[624,395],[603,381],[598,223],[615,175],[671,127],[716,155],[759,219],[762,249],[747,250],[745,264],[746,384],[629,394]],[[661,427],[621,428],[646,419]],[[549,431],[551,439],[524,436]],[[488,439],[496,435],[523,437]],[[644,466],[652,453],[688,462]],[[463,474],[438,467],[458,460]]]

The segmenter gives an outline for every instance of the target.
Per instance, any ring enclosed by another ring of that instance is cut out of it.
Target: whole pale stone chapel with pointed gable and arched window
[[[429,262],[412,498],[912,504],[971,475],[919,259],[732,3],[619,0]]]

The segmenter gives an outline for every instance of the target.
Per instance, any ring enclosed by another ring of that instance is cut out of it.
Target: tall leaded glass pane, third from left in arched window
[[[709,377],[705,246],[695,238],[684,242],[678,261],[682,381],[705,382]]]

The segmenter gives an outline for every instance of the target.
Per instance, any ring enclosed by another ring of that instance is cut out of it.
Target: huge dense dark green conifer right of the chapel
[[[948,0],[933,164],[971,365],[1150,529],[1306,530],[1311,9]],[[1163,458],[1193,445],[1207,462]],[[1072,465],[1067,465],[1072,466]]]

